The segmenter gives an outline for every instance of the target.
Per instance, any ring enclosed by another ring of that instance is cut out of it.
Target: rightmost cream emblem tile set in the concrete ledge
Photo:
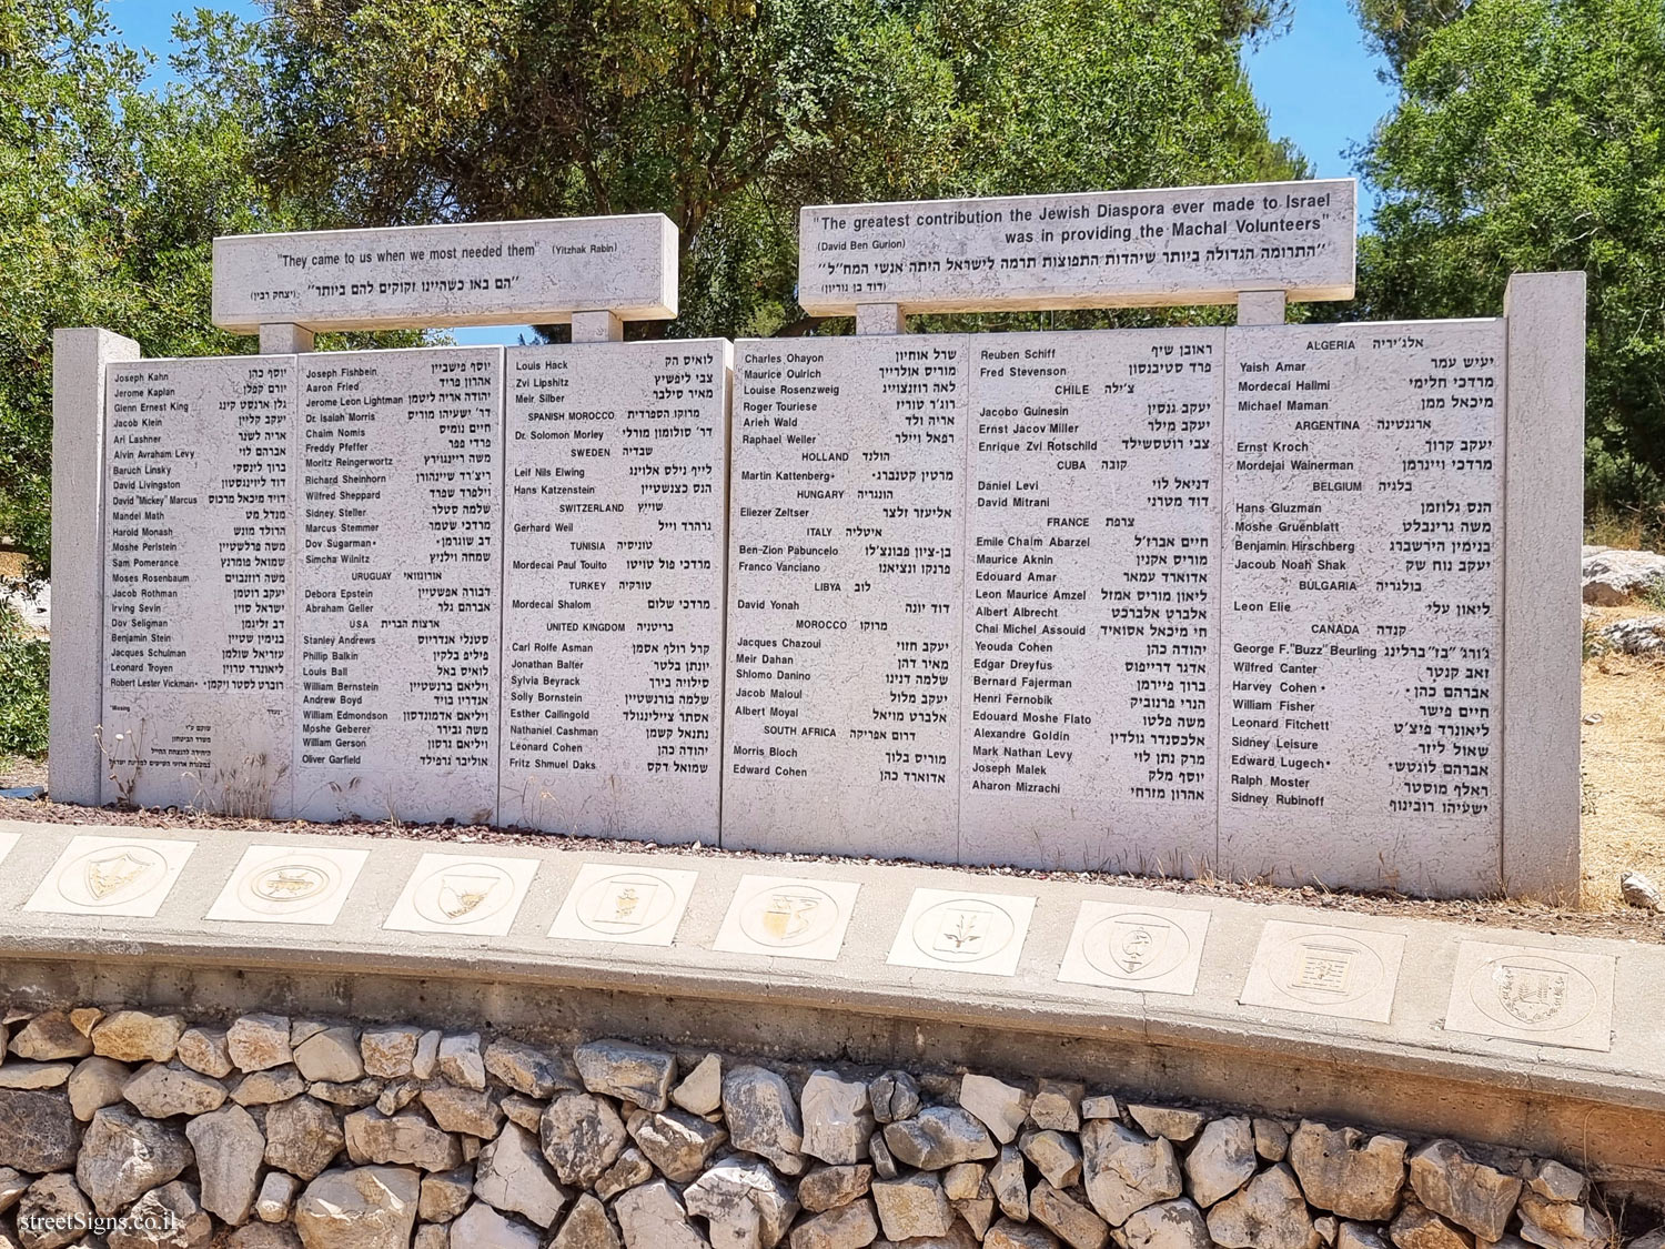
[[[1464,941],[1445,1028],[1607,1052],[1615,973],[1610,954]]]

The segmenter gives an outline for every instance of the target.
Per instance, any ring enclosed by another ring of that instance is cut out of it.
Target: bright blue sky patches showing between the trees
[[[251,0],[196,3],[243,17],[261,13]],[[148,48],[158,60],[171,47],[173,13],[183,7],[170,0],[110,0],[110,13],[125,40]],[[1295,0],[1289,32],[1247,55],[1249,78],[1270,117],[1272,133],[1295,140],[1320,178],[1349,177],[1347,148],[1367,140],[1392,107],[1394,92],[1375,73],[1380,63],[1365,50],[1347,0]],[[166,77],[166,70],[158,77]],[[1369,192],[1360,187],[1360,220],[1369,210]],[[514,343],[521,333],[526,326],[458,330],[456,340]]]

